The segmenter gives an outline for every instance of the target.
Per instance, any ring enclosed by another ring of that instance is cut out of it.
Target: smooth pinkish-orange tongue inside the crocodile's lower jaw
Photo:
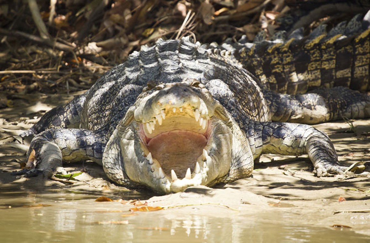
[[[207,139],[202,134],[174,130],[150,139],[148,149],[166,175],[171,175],[173,169],[178,178],[182,179],[188,168],[193,172],[196,159],[202,154],[206,144]]]

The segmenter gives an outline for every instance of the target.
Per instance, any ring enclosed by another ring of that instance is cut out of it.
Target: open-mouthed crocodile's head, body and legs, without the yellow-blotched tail
[[[291,121],[369,117],[369,96],[271,91],[238,60],[239,44],[227,51],[184,37],[142,46],[22,134],[34,138],[18,173],[50,176],[62,161],[91,160],[118,185],[159,193],[248,177],[262,153],[308,154],[317,176],[344,173],[326,134]]]

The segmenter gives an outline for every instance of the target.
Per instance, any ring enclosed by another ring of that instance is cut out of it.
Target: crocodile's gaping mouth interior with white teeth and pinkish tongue
[[[206,150],[211,136],[207,108],[166,105],[140,124],[139,136],[151,171],[158,179],[175,182],[202,178],[207,171]]]

